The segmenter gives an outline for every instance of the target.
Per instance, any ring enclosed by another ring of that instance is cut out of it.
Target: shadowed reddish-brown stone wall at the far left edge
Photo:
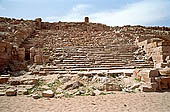
[[[25,49],[0,41],[0,73],[25,68]]]

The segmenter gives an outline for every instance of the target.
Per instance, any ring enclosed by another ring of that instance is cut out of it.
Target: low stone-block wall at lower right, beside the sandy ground
[[[136,69],[133,77],[144,83],[143,92],[156,92],[170,89],[169,68]]]

